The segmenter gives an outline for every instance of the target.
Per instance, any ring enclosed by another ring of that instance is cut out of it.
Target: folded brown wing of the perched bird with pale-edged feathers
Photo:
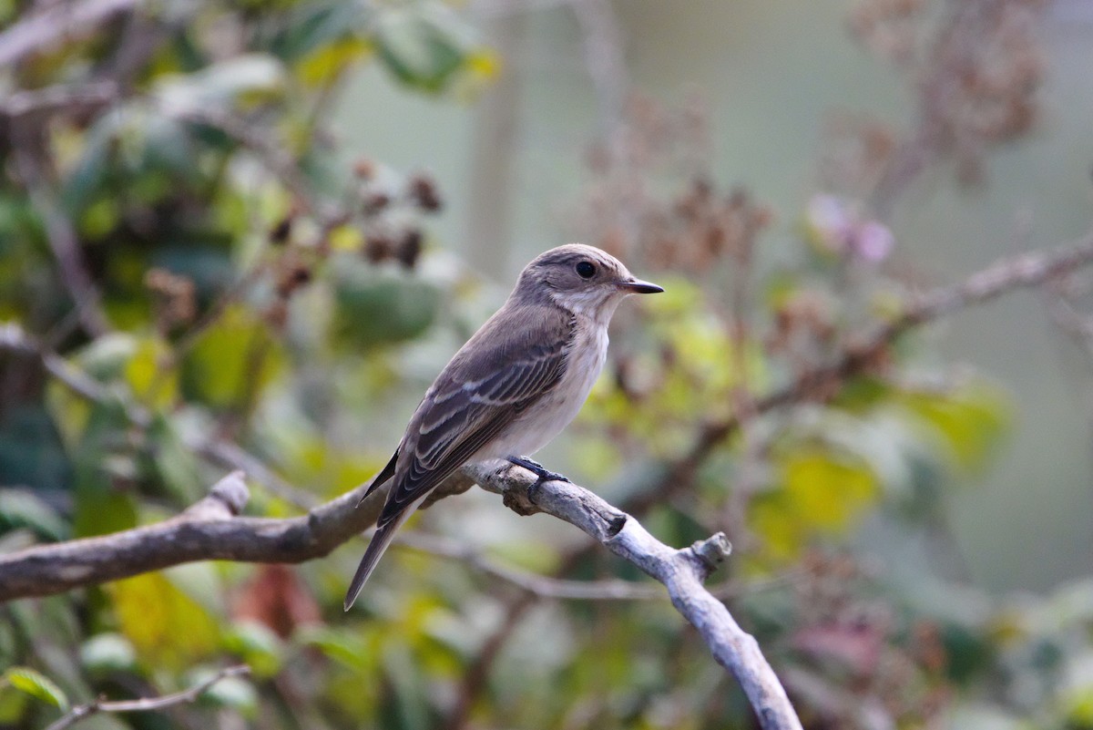
[[[559,307],[506,307],[463,345],[407,428],[378,527],[398,519],[557,384],[574,327]]]

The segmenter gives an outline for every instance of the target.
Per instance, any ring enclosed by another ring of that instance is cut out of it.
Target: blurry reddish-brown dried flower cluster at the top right
[[[937,12],[926,0],[863,0],[850,14],[855,37],[900,70],[918,115],[902,134],[880,122],[834,128],[831,146],[857,154],[842,164],[828,160],[822,172],[825,184],[842,186],[834,189],[866,188],[863,197],[882,211],[936,160],[954,162],[962,182],[978,181],[984,154],[1027,133],[1038,116],[1044,58],[1036,32],[1046,0],[935,5]],[[847,141],[855,137],[857,144]],[[847,175],[854,169],[856,180]]]

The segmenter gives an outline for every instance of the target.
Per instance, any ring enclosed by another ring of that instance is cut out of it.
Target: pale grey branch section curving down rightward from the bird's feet
[[[463,471],[485,490],[504,496],[517,514],[543,511],[581,529],[668,589],[672,605],[690,621],[714,654],[743,687],[764,730],[800,728],[786,691],[755,639],[732,619],[725,604],[703,586],[729,554],[724,533],[691,548],[669,548],[642,525],[588,490],[567,482],[538,484],[530,471],[502,462],[471,464]]]

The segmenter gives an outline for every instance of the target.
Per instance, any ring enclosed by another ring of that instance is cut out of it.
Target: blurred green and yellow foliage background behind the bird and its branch
[[[1088,225],[1078,177],[1043,207],[1072,227],[1026,222],[1030,180],[1088,173],[1088,4],[672,5],[0,1],[0,551],[164,519],[226,468],[254,515],[356,486],[515,272],[575,238],[667,292],[619,313],[543,460],[670,544],[728,532],[716,590],[807,728],[1093,727],[1066,508],[1088,457],[1053,448],[1088,446],[1086,384],[1027,344],[1061,339],[1041,315],[983,325],[1025,370],[957,321],[757,408],[913,292]],[[997,464],[1030,451],[1014,507]],[[83,726],[755,727],[656,592],[505,579],[642,579],[574,530],[475,492],[411,528],[348,614],[361,541],[0,605],[0,726],[242,661],[199,703]]]

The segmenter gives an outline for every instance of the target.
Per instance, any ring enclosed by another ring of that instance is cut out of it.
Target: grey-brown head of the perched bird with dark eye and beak
[[[552,248],[529,263],[514,295],[526,301],[548,297],[575,314],[607,322],[628,294],[665,291],[636,279],[622,261],[595,246],[567,244]]]

